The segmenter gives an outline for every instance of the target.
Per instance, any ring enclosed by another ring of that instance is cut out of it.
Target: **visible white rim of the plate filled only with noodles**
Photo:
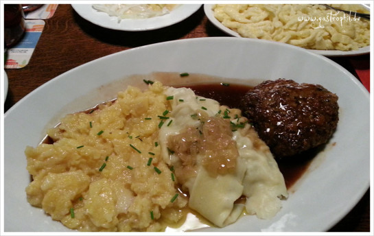
[[[243,38],[240,36],[237,32],[233,31],[232,29],[229,29],[228,27],[222,25],[220,21],[215,19],[213,10],[211,8],[214,4],[204,4],[204,12],[205,15],[207,15],[207,18],[215,27],[218,27],[218,29],[221,29],[226,34],[229,34],[231,36],[237,37],[237,38]],[[364,7],[368,8],[366,5]],[[370,53],[370,45],[366,47],[361,47],[360,49],[356,51],[340,51],[340,50],[315,50],[315,49],[308,49],[309,51],[312,51],[316,54],[320,54],[323,56],[358,56],[362,54],[369,54]]]

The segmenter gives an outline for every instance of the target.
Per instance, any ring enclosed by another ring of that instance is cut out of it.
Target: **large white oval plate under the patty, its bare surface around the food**
[[[115,97],[113,88],[126,88],[110,84],[120,80],[144,84],[126,76],[153,71],[204,73],[220,76],[225,82],[252,85],[289,78],[322,84],[339,97],[340,121],[334,137],[274,218],[259,220],[245,215],[225,228],[201,231],[327,231],[368,189],[369,93],[351,73],[328,58],[283,43],[192,38],[137,47],[83,64],[43,84],[5,113],[5,231],[69,231],[27,203],[25,187],[30,176],[25,169],[25,147],[38,145],[46,128],[56,125],[58,118]],[[174,84],[184,80],[180,78]]]

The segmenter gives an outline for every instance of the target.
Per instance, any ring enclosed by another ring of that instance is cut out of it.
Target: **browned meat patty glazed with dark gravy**
[[[242,110],[276,158],[327,143],[338,123],[338,96],[316,84],[265,81],[246,93]]]

